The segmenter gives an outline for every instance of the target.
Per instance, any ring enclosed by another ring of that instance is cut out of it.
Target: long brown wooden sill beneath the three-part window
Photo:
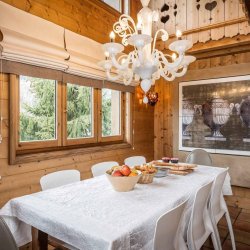
[[[96,152],[126,149],[126,148],[132,148],[131,144],[123,142],[112,145],[92,146],[92,147],[57,150],[57,151],[49,151],[41,153],[29,153],[29,154],[16,155],[14,161],[11,161],[10,164],[15,165],[15,164],[22,164],[22,163],[36,162],[36,161],[40,162],[56,158],[65,158],[82,154],[91,154]]]

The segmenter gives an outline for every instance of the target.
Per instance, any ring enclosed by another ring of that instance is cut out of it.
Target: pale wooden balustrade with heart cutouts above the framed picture
[[[250,33],[243,0],[154,0],[150,5],[160,14],[154,31],[173,35],[179,29],[193,43]]]

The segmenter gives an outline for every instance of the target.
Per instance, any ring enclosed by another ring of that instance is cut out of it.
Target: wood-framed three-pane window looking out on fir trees
[[[130,94],[112,83],[103,88],[93,79],[84,79],[86,86],[24,75],[10,79],[10,147],[16,156],[130,141]]]

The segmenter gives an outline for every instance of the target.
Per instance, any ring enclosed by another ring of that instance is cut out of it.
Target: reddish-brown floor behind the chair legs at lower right
[[[237,250],[250,250],[250,210],[228,206],[233,224],[234,237]],[[226,219],[223,217],[219,222],[219,233],[222,249],[231,250],[231,240]],[[211,239],[207,240],[202,250],[214,249]]]

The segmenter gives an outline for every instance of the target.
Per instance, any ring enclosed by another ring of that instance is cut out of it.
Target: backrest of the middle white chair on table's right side
[[[189,245],[190,249],[200,249],[204,243],[201,242],[204,235],[208,237],[211,233],[207,232],[206,225],[208,223],[205,221],[207,218],[205,214],[208,214],[208,202],[212,185],[213,181],[199,188],[195,194],[187,232],[188,244],[191,244],[191,246]]]

